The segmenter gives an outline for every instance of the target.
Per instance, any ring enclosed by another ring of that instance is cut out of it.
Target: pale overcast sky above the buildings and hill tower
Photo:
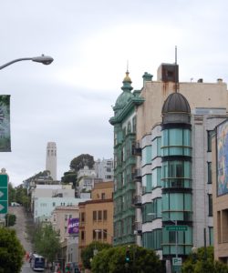
[[[88,153],[113,157],[109,117],[129,61],[135,89],[144,72],[174,63],[180,81],[228,81],[226,0],[0,0],[0,66],[20,57],[52,56],[0,72],[11,95],[12,152],[0,154],[19,185],[46,168],[47,142],[57,143],[57,178]]]

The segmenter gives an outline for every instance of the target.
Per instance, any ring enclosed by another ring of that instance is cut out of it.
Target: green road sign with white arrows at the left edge
[[[0,214],[8,212],[8,176],[0,173]]]

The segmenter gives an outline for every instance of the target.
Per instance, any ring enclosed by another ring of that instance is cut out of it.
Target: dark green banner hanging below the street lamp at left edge
[[[11,152],[10,96],[0,96],[0,152]]]

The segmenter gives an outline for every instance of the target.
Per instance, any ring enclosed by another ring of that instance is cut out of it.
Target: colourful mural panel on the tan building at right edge
[[[228,120],[217,126],[217,195],[228,193]]]

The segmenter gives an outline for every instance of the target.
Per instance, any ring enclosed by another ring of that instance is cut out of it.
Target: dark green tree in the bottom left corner
[[[23,265],[25,250],[16,231],[0,227],[0,273],[19,273]]]

